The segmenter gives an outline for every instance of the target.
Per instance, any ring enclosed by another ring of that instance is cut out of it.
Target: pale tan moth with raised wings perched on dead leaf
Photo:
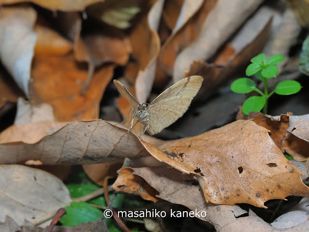
[[[140,136],[142,136],[145,131],[150,135],[159,133],[164,128],[173,124],[188,110],[191,101],[199,91],[202,82],[202,76],[189,76],[166,89],[151,103],[140,104],[128,89],[126,89],[119,81],[114,80],[114,84],[119,93],[127,99],[132,106],[129,131],[132,130],[134,116],[136,121],[143,125]]]

